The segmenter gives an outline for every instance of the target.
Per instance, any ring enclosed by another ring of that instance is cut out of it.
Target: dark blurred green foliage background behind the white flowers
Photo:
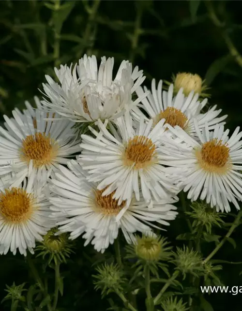
[[[179,71],[199,74],[211,87],[210,103],[224,109],[227,126],[233,129],[242,124],[241,12],[241,0],[1,0],[1,120],[14,107],[23,108],[25,100],[41,96],[38,88],[42,89],[45,74],[53,75],[54,66],[93,53],[98,58],[114,56],[117,67],[122,59],[131,60],[144,70],[147,86],[152,78],[170,80]],[[171,242],[185,232],[183,225],[179,218],[171,224],[165,234]],[[227,243],[216,258],[241,261],[241,234],[240,229],[233,236],[236,250]],[[63,309],[58,310],[106,310],[109,305],[94,292],[91,279],[97,255],[91,246],[79,243],[76,254],[63,265]],[[28,265],[20,256],[7,255],[0,257],[0,266],[3,298],[6,283],[26,281]],[[241,286],[241,270],[225,264],[220,272],[223,283]],[[211,294],[206,299],[214,311],[231,305],[239,311],[240,295]],[[138,307],[144,310],[143,301]]]

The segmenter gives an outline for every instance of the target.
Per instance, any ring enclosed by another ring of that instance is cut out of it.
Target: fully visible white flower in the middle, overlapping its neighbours
[[[92,130],[96,139],[82,135],[82,153],[78,157],[84,170],[90,173],[89,180],[100,182],[98,190],[104,190],[103,195],[114,192],[113,198],[131,202],[135,192],[139,201],[139,187],[145,202],[152,199],[159,201],[177,193],[177,188],[166,176],[164,167],[160,164],[162,151],[158,149],[159,140],[165,133],[165,120],[152,127],[153,121],[147,124],[140,120],[137,129],[132,125],[128,113],[117,119],[116,126],[110,125],[109,133],[106,124],[99,120],[100,133]]]

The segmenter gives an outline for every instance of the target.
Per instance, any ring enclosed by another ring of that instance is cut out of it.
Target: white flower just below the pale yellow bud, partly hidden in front
[[[206,113],[201,113],[201,110],[207,104],[207,99],[200,103],[198,101],[199,94],[194,94],[194,91],[185,97],[182,88],[177,95],[174,95],[173,88],[174,86],[171,84],[168,91],[162,91],[162,80],[159,81],[156,88],[155,80],[153,79],[151,93],[142,100],[141,104],[133,108],[132,114],[134,119],[139,120],[140,116],[143,115],[141,108],[148,114],[148,117],[144,117],[146,121],[153,119],[154,123],[157,123],[165,118],[166,124],[170,124],[173,127],[175,125],[180,126],[191,137],[196,137],[194,118],[197,120],[199,129],[204,128],[205,124],[208,124],[209,129],[213,129],[218,123],[220,125],[225,124],[222,121],[227,116],[218,117],[222,109],[216,110],[216,105],[214,105]],[[143,89],[141,86],[136,89],[136,93],[140,97],[147,91],[146,87]]]

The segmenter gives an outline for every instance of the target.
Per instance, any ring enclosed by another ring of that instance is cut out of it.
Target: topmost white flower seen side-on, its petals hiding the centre
[[[55,68],[60,84],[45,76],[47,97],[42,104],[76,122],[116,119],[141,100],[133,102],[132,94],[145,77],[138,67],[132,71],[132,64],[122,61],[113,80],[113,66],[113,57],[102,57],[98,68],[96,56],[84,55],[73,69],[67,65]]]

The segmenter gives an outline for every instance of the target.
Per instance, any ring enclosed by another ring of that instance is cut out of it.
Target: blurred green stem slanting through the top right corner
[[[230,39],[229,35],[227,34],[226,32],[226,29],[225,29],[225,25],[224,23],[222,23],[216,13],[215,13],[215,10],[213,8],[213,5],[212,5],[212,1],[211,0],[205,0],[205,5],[207,7],[207,10],[208,10],[208,14],[209,14],[209,17],[211,18],[213,24],[220,28],[221,29],[221,32],[222,32],[222,36],[225,40],[225,43],[227,45],[227,48],[228,48],[228,51],[230,53],[230,55],[232,57],[234,57],[234,59],[236,60],[236,62],[238,63],[238,65],[240,67],[242,67],[242,55],[239,53],[239,51],[236,49],[235,45],[233,44],[232,40]]]

